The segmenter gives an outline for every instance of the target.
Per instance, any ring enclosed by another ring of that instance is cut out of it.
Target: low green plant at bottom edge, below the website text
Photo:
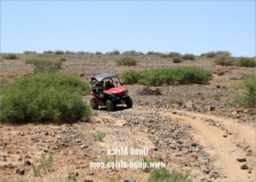
[[[154,168],[150,173],[148,181],[192,182],[191,178],[190,171],[186,171],[185,174],[183,174],[183,172],[176,172],[174,169],[170,173],[166,168]]]

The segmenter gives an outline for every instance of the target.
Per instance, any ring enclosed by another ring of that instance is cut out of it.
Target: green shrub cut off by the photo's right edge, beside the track
[[[256,74],[247,78],[244,81],[231,85],[232,91],[242,89],[243,93],[237,93],[234,97],[234,101],[231,101],[231,105],[240,105],[244,107],[254,107],[256,104]]]

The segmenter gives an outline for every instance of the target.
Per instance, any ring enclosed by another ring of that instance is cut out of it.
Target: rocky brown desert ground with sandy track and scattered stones
[[[214,65],[214,60],[197,57],[195,61],[173,63],[171,58],[137,56],[136,66],[117,66],[122,55],[45,55],[19,54],[18,60],[2,60],[1,78],[13,80],[33,75],[34,65],[25,60],[41,57],[66,57],[62,73],[80,75],[89,82],[98,73],[121,74],[126,69],[198,66],[209,69],[214,80],[209,85],[126,85],[134,106],[120,105],[116,111],[104,107],[94,111],[90,121],[75,125],[1,125],[2,181],[146,181],[150,172],[141,168],[92,168],[91,162],[142,162],[142,155],[108,155],[114,148],[148,148],[146,158],[154,156],[166,168],[190,170],[194,181],[255,180],[255,117],[248,109],[227,103],[234,97],[229,85],[254,73],[254,68]],[[218,85],[218,86],[217,86]],[[225,87],[224,87],[225,86]],[[219,88],[220,87],[220,88]],[[220,100],[214,100],[219,94]],[[203,99],[202,99],[203,98]],[[85,97],[89,101],[90,96]],[[170,100],[180,100],[180,105]],[[96,141],[90,133],[102,131],[106,137]],[[42,153],[54,163],[50,171],[35,176],[32,163],[40,164]]]

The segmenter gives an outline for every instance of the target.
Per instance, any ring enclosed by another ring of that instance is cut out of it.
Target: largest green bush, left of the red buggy
[[[90,87],[78,76],[63,73],[18,77],[2,84],[3,122],[72,123],[90,117],[82,96]]]

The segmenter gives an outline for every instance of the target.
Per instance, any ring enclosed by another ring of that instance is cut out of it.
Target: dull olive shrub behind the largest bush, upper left
[[[35,65],[34,73],[56,73],[62,67],[62,61],[51,61],[46,59],[30,59],[26,64]]]

